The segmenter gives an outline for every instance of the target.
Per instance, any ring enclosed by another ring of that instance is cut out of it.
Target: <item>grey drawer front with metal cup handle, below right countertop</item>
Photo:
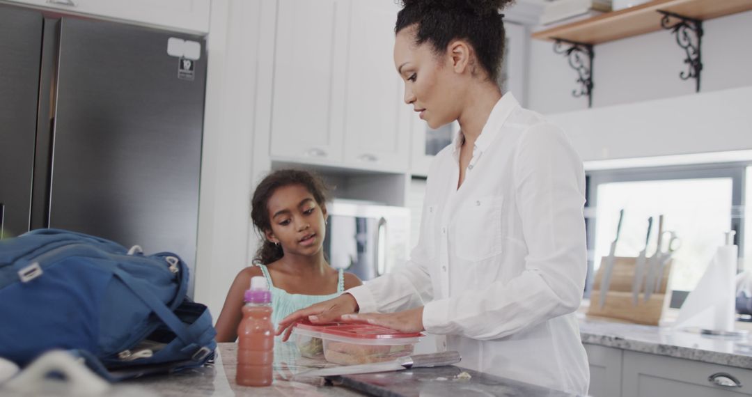
[[[750,369],[633,351],[623,352],[622,365],[622,397],[752,395]],[[590,377],[592,385],[592,373]],[[722,386],[722,383],[727,386]],[[595,390],[591,392],[598,395]]]

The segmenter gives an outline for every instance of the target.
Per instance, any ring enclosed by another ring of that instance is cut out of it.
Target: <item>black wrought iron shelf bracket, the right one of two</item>
[[[688,70],[679,72],[679,77],[681,77],[681,80],[695,79],[695,92],[699,92],[700,72],[702,71],[702,53],[700,52],[702,48],[702,20],[695,20],[669,11],[658,10],[658,12],[663,14],[660,26],[663,29],[672,30],[676,35],[676,43],[687,53],[687,59],[684,59],[684,63],[687,64]],[[672,19],[679,21],[672,24]]]

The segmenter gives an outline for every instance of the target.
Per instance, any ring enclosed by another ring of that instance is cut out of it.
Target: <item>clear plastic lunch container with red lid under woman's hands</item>
[[[294,332],[302,356],[320,358],[323,354],[326,361],[339,365],[409,356],[423,336],[420,332],[406,334],[381,326],[342,323],[323,326],[299,323]]]

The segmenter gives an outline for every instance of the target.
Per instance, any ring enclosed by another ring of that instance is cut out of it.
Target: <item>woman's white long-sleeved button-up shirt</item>
[[[575,311],[587,273],[581,159],[561,129],[496,103],[459,180],[462,135],[429,170],[420,238],[391,274],[350,289],[360,311],[425,305],[426,332],[446,335],[460,365],[587,394]]]

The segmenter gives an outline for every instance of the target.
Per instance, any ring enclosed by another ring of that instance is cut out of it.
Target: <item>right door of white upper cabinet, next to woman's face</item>
[[[355,1],[350,12],[344,159],[347,165],[406,171],[411,107],[394,66],[394,25],[399,5]]]

